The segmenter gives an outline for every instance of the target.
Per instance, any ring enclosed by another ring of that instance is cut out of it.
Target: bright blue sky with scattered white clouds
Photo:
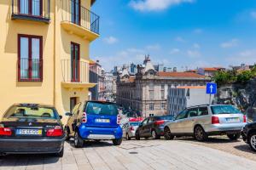
[[[256,62],[256,0],[97,0],[90,58],[110,71],[142,63],[188,67]]]

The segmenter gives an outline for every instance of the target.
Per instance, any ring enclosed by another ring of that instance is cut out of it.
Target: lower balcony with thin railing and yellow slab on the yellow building
[[[89,82],[89,61],[71,59],[61,60],[61,84],[64,88],[93,88],[96,83]]]

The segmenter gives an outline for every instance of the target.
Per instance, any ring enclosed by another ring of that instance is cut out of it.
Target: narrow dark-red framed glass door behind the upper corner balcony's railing
[[[80,0],[71,0],[71,21],[80,25]]]

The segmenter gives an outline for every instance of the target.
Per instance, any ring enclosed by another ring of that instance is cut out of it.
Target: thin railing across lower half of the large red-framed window
[[[41,82],[43,80],[43,59],[18,59],[19,82]]]

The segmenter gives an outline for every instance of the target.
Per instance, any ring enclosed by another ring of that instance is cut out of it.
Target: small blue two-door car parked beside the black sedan
[[[112,140],[114,145],[122,143],[123,131],[117,105],[110,102],[86,101],[74,106],[65,126],[66,138],[74,138],[77,148],[84,140]]]

